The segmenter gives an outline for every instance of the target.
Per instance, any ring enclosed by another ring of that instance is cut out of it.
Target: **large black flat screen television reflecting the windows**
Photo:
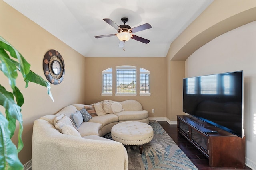
[[[184,78],[183,111],[243,137],[243,71]]]

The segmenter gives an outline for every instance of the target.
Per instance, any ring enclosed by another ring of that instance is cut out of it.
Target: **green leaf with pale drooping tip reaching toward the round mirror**
[[[30,81],[30,82],[34,82],[37,84],[40,84],[41,86],[44,86],[47,88],[47,93],[50,96],[50,98],[52,99],[52,101],[54,101],[53,97],[52,97],[52,93],[51,93],[51,86],[49,82],[46,82],[46,80],[44,80],[41,76],[37,75],[36,73],[32,72],[30,70],[30,72],[26,75],[26,80]]]

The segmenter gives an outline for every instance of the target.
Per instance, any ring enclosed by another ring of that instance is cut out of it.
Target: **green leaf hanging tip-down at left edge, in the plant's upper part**
[[[0,48],[0,61],[1,71],[9,79],[10,86],[14,88],[16,86],[16,78],[18,77],[17,67],[2,48]]]

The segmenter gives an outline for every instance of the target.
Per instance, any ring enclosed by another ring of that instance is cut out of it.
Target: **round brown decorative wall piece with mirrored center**
[[[65,74],[65,64],[62,56],[56,50],[49,50],[44,55],[44,75],[52,84],[60,84]]]

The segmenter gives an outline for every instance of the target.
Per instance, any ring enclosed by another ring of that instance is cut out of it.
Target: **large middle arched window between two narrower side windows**
[[[116,94],[136,95],[136,67],[116,67]]]

